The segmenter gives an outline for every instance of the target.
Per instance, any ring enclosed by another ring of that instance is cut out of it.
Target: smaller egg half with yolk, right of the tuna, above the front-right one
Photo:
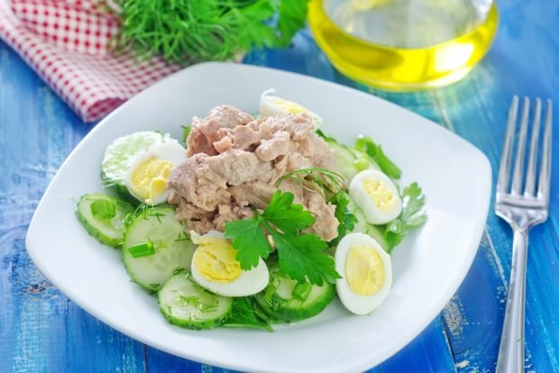
[[[376,169],[364,170],[353,177],[349,193],[362,209],[367,223],[389,223],[402,211],[398,188],[389,177]]]

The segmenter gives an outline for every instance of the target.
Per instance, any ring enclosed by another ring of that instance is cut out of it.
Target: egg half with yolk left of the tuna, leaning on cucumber
[[[144,204],[167,202],[170,171],[186,157],[187,151],[179,143],[153,145],[133,159],[124,184],[130,194]]]

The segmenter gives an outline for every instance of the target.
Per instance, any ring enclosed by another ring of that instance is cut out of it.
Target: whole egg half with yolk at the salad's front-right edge
[[[390,256],[367,234],[351,233],[340,241],[335,270],[342,276],[335,284],[338,296],[353,314],[370,314],[389,296]]]

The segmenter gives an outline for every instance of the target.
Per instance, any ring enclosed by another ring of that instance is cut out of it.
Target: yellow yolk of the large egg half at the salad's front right
[[[353,245],[345,260],[345,279],[353,293],[372,296],[384,285],[386,271],[379,253],[366,245]]]

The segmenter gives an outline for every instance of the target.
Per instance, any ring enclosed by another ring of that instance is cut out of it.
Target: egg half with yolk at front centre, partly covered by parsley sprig
[[[260,259],[255,268],[243,270],[236,259],[237,250],[224,233],[191,232],[190,237],[198,245],[190,271],[201,287],[220,296],[252,296],[268,286],[270,273],[264,260]]]

